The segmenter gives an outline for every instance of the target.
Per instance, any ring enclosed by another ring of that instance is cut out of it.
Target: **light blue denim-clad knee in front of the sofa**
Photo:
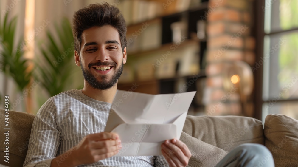
[[[215,167],[274,167],[271,152],[261,144],[241,144]]]

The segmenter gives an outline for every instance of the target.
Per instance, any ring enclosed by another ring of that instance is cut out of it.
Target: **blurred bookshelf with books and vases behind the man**
[[[128,24],[127,63],[117,89],[149,94],[197,91],[189,114],[203,113],[207,21],[201,16],[208,10],[208,1],[127,0],[125,3],[117,5]],[[125,10],[127,6],[132,9]],[[150,12],[152,8],[154,12]],[[147,15],[141,14],[142,11]]]

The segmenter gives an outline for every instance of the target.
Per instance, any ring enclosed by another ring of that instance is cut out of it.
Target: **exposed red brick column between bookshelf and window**
[[[207,18],[206,115],[241,115],[238,93],[223,89],[224,64],[235,60],[255,62],[252,0],[209,0]],[[252,116],[252,103],[247,113]]]

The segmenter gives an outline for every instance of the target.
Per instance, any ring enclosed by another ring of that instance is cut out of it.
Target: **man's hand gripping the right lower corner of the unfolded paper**
[[[177,139],[166,140],[162,144],[162,154],[170,167],[185,167],[191,157],[188,147]]]

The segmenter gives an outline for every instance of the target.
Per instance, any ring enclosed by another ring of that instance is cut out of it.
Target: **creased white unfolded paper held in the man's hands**
[[[117,133],[115,156],[162,155],[161,144],[180,139],[194,92],[149,95],[117,90],[105,132]]]

